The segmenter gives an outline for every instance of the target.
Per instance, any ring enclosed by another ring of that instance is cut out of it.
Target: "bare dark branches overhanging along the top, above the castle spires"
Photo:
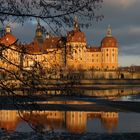
[[[73,25],[73,16],[81,18],[81,27],[91,26],[90,21],[101,20],[96,15],[103,0],[0,0],[0,21],[4,23],[42,19],[52,30]]]

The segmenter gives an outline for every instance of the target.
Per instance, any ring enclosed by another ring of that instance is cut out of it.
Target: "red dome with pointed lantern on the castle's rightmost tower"
[[[118,42],[115,37],[112,36],[112,29],[110,25],[108,26],[106,37],[101,41],[102,48],[117,48]]]

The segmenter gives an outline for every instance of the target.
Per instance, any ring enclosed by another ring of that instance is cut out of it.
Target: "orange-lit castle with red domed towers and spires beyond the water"
[[[74,19],[73,30],[68,32],[66,37],[51,36],[47,33],[44,39],[42,26],[38,21],[31,43],[21,44],[16,41],[10,26],[7,26],[5,35],[0,38],[0,44],[6,47],[1,52],[2,55],[11,63],[1,59],[0,66],[10,70],[17,69],[17,65],[30,69],[35,63],[39,63],[44,71],[49,68],[98,71],[118,69],[118,42],[112,36],[110,26],[99,47],[87,45],[77,18]]]

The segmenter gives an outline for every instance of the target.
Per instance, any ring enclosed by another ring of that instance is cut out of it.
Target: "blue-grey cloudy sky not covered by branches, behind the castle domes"
[[[87,42],[100,46],[106,35],[108,25],[119,44],[119,65],[140,65],[140,0],[104,0],[102,8],[97,11],[104,19],[93,22],[93,27],[83,29]],[[21,42],[31,42],[36,24],[27,22],[23,26],[14,23],[13,33]]]

